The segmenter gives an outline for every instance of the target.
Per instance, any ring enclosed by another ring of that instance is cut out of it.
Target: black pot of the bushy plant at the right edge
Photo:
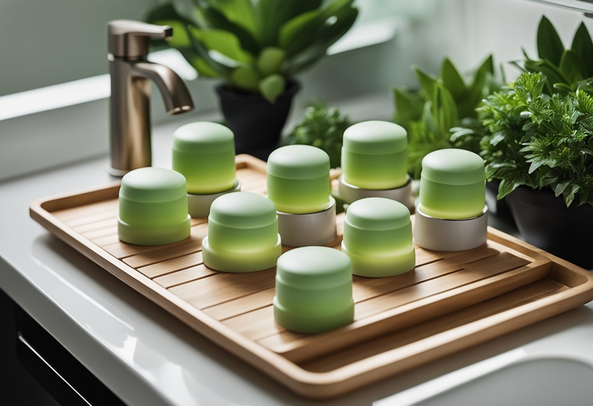
[[[506,197],[525,240],[580,267],[593,267],[593,206],[573,203],[551,189],[519,186]],[[578,198],[577,198],[578,199]]]

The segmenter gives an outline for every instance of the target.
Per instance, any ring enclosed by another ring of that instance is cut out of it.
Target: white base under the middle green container
[[[278,213],[278,232],[282,237],[282,245],[289,247],[327,245],[336,240],[336,199],[331,196],[326,210],[305,214],[282,211],[276,211],[276,213]]]

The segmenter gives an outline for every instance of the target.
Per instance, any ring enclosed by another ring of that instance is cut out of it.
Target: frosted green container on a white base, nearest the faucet
[[[234,188],[235,137],[224,125],[196,122],[173,133],[173,169],[187,179],[187,193],[216,194]]]

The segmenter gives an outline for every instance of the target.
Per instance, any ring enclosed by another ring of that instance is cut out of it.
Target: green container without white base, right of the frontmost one
[[[349,205],[344,220],[342,251],[352,261],[352,273],[387,277],[416,265],[410,211],[386,198],[360,199]]]

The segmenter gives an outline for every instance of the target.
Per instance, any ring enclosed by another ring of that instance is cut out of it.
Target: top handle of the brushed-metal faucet
[[[107,46],[113,56],[134,58],[148,54],[151,38],[171,39],[173,28],[134,20],[113,20],[107,23]]]

